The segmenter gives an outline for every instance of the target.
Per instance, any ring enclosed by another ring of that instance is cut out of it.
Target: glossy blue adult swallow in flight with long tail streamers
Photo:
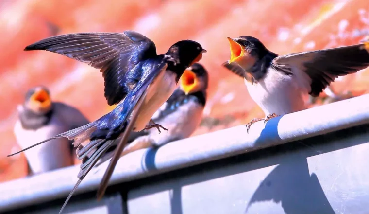
[[[166,54],[158,55],[155,44],[134,31],[52,36],[27,46],[25,50],[47,50],[100,69],[105,98],[109,105],[117,104],[111,112],[92,123],[33,145],[66,137],[74,140],[77,158],[82,160],[79,180],[59,213],[101,155],[122,136],[101,180],[97,192],[98,200],[101,199],[129,133],[148,127],[152,115],[176,89],[185,69],[200,61],[206,52],[198,42],[183,40],[173,44]],[[149,126],[152,127],[160,125]]]

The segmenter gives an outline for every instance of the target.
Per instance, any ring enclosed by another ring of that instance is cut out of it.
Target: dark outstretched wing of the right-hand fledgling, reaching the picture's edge
[[[369,66],[369,53],[364,44],[276,57],[272,66],[277,71],[305,72],[311,79],[309,94],[319,96],[338,76],[355,73]],[[295,69],[295,71],[294,71]]]

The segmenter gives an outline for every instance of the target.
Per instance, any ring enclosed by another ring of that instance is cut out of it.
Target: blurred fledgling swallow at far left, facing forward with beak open
[[[25,101],[17,106],[18,120],[14,126],[17,143],[22,149],[59,133],[86,125],[89,121],[76,108],[53,102],[49,89],[34,87],[26,92]],[[51,140],[25,151],[30,174],[73,164],[73,146],[66,138]]]

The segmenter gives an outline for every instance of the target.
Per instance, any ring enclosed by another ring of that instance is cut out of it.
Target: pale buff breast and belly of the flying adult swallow
[[[145,101],[134,124],[134,131],[143,130],[149,123],[152,115],[161,107],[176,89],[177,74],[172,71],[161,71],[148,88]]]

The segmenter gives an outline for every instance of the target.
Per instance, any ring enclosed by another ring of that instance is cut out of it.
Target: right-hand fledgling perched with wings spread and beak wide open
[[[279,56],[252,36],[228,38],[231,59],[223,63],[245,79],[252,99],[266,118],[255,118],[250,126],[280,115],[306,109],[303,95],[314,97],[338,76],[355,73],[369,66],[364,44]]]

